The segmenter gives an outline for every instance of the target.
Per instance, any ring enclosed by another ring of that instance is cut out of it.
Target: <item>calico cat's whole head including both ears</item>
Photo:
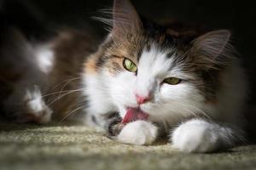
[[[219,72],[229,65],[230,31],[174,37],[144,20],[128,0],[115,0],[113,26],[96,65],[124,117],[140,108],[150,119],[202,114],[217,102]]]

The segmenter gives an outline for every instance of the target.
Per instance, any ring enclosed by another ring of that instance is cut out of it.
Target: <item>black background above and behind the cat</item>
[[[139,13],[155,20],[176,19],[185,23],[201,24],[212,29],[229,29],[232,42],[241,54],[247,70],[251,92],[250,103],[256,101],[256,5],[253,1],[232,0],[131,0]],[[111,0],[0,0],[7,22],[15,23],[34,37],[49,26],[93,26],[100,35],[106,34],[102,23],[91,20],[98,9],[111,8]],[[31,15],[37,16],[37,22]],[[2,16],[3,17],[3,16]],[[1,16],[0,16],[1,18]],[[5,20],[6,22],[6,20]],[[47,23],[47,24],[46,24]],[[43,29],[44,27],[44,29]]]

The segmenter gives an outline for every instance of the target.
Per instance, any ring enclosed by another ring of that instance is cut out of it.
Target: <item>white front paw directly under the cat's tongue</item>
[[[117,139],[125,144],[152,144],[157,137],[157,127],[150,122],[130,122],[122,129]]]

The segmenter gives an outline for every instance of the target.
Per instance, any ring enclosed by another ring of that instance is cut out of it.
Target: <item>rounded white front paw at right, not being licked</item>
[[[174,130],[172,144],[186,152],[211,152],[219,147],[218,137],[218,125],[192,120]]]

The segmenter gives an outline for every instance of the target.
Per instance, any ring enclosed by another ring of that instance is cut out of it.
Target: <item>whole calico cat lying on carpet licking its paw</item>
[[[12,81],[7,115],[79,119],[125,144],[164,135],[187,152],[244,141],[247,81],[230,31],[173,30],[140,16],[129,0],[114,0],[111,23],[102,43],[87,31],[60,31],[44,44],[8,31],[0,49],[1,89]]]

